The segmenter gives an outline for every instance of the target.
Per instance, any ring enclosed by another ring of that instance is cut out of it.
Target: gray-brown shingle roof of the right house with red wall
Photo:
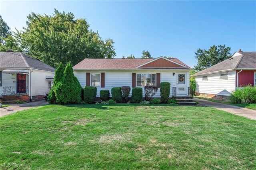
[[[197,72],[193,76],[241,68],[252,68],[256,70],[256,52],[236,52],[230,59]]]

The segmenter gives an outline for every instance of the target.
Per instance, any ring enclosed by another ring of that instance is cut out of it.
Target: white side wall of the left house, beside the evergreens
[[[48,80],[46,76],[54,77],[54,72],[34,69],[31,72],[31,96],[44,95],[48,91]]]

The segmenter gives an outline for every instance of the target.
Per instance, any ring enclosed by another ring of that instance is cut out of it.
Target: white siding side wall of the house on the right
[[[220,80],[220,74],[227,74],[228,78]],[[207,81],[202,80],[203,76],[196,76],[198,93],[230,96],[230,93],[236,89],[236,71],[208,74]]]

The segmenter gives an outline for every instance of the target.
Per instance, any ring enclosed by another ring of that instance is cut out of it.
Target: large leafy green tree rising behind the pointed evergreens
[[[54,10],[48,16],[32,12],[27,18],[27,27],[9,39],[19,44],[24,53],[50,66],[116,55],[112,39],[102,40],[98,31],[89,29],[85,19],[76,19],[72,13]]]

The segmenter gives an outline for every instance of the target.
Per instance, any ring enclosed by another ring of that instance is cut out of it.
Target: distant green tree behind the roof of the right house
[[[218,64],[231,57],[230,47],[224,45],[213,45],[208,50],[198,49],[196,51],[197,65],[195,70],[201,71],[214,64]]]

